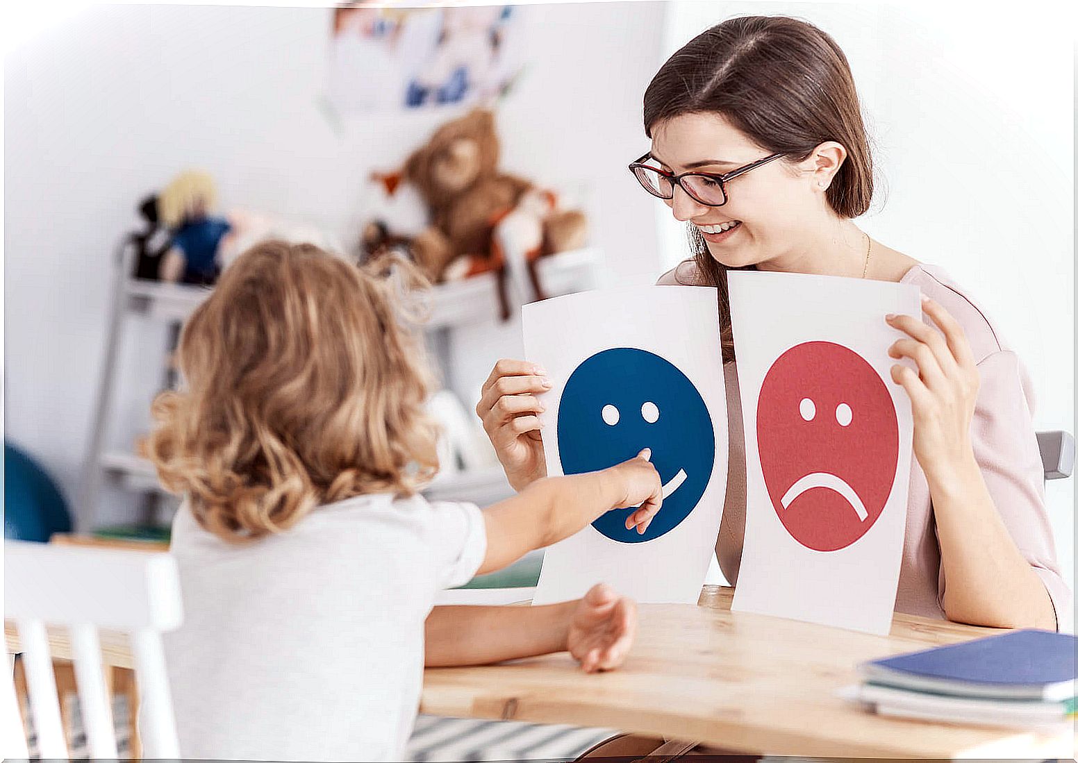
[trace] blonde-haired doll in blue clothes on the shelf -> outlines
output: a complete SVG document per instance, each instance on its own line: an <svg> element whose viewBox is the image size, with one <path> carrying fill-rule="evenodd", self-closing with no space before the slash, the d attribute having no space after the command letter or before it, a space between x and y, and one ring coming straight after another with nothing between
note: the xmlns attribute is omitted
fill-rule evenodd
<svg viewBox="0 0 1078 763"><path fill-rule="evenodd" d="M172 244L161 266L166 281L211 285L222 267L232 223L213 217L217 188L206 172L181 172L161 193L162 222L172 231Z"/></svg>

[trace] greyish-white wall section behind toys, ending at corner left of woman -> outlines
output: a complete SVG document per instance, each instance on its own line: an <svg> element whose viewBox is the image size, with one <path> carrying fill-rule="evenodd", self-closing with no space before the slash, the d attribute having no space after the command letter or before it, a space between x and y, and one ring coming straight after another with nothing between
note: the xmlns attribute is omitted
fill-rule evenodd
<svg viewBox="0 0 1078 763"><path fill-rule="evenodd" d="M638 224L650 199L623 165L642 151L639 99L660 64L663 9L522 11L531 63L500 113L502 164L555 185L586 183L594 240L613 277L652 278L655 232ZM98 385L112 252L137 225L141 196L201 166L225 207L345 225L361 214L370 169L392 167L448 119L354 120L335 131L320 106L330 23L329 9L102 6L8 55L6 435L70 499ZM514 336L508 328L482 343L464 337L474 355L457 372L461 383L478 389ZM157 384L162 330L135 325L128 339L113 445L144 428Z"/></svg>

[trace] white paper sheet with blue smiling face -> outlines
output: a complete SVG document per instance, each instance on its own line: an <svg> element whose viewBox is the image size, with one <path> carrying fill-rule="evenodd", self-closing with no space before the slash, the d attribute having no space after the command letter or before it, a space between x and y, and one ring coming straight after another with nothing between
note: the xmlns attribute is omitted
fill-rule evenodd
<svg viewBox="0 0 1078 763"><path fill-rule="evenodd" d="M644 602L695 604L727 482L727 400L715 289L634 287L524 306L525 357L552 388L547 473L580 474L651 449L663 504L648 529L616 509L545 552L535 604L606 582Z"/></svg>

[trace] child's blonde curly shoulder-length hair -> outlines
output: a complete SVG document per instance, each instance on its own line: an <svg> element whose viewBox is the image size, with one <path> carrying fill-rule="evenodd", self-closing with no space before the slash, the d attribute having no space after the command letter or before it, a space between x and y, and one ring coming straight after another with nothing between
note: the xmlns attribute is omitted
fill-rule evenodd
<svg viewBox="0 0 1078 763"><path fill-rule="evenodd" d="M154 400L141 444L204 528L255 539L319 504L409 496L433 476L430 376L399 283L285 241L225 269L183 329L186 389Z"/></svg>

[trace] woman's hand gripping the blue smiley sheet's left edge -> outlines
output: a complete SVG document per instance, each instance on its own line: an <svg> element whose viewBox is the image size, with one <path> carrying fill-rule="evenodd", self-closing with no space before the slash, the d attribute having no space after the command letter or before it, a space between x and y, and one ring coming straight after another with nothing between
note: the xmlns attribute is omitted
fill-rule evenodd
<svg viewBox="0 0 1078 763"><path fill-rule="evenodd" d="M483 384L475 413L490 439L509 484L520 493L547 476L536 396L550 389L545 371L523 360L499 360Z"/></svg>

